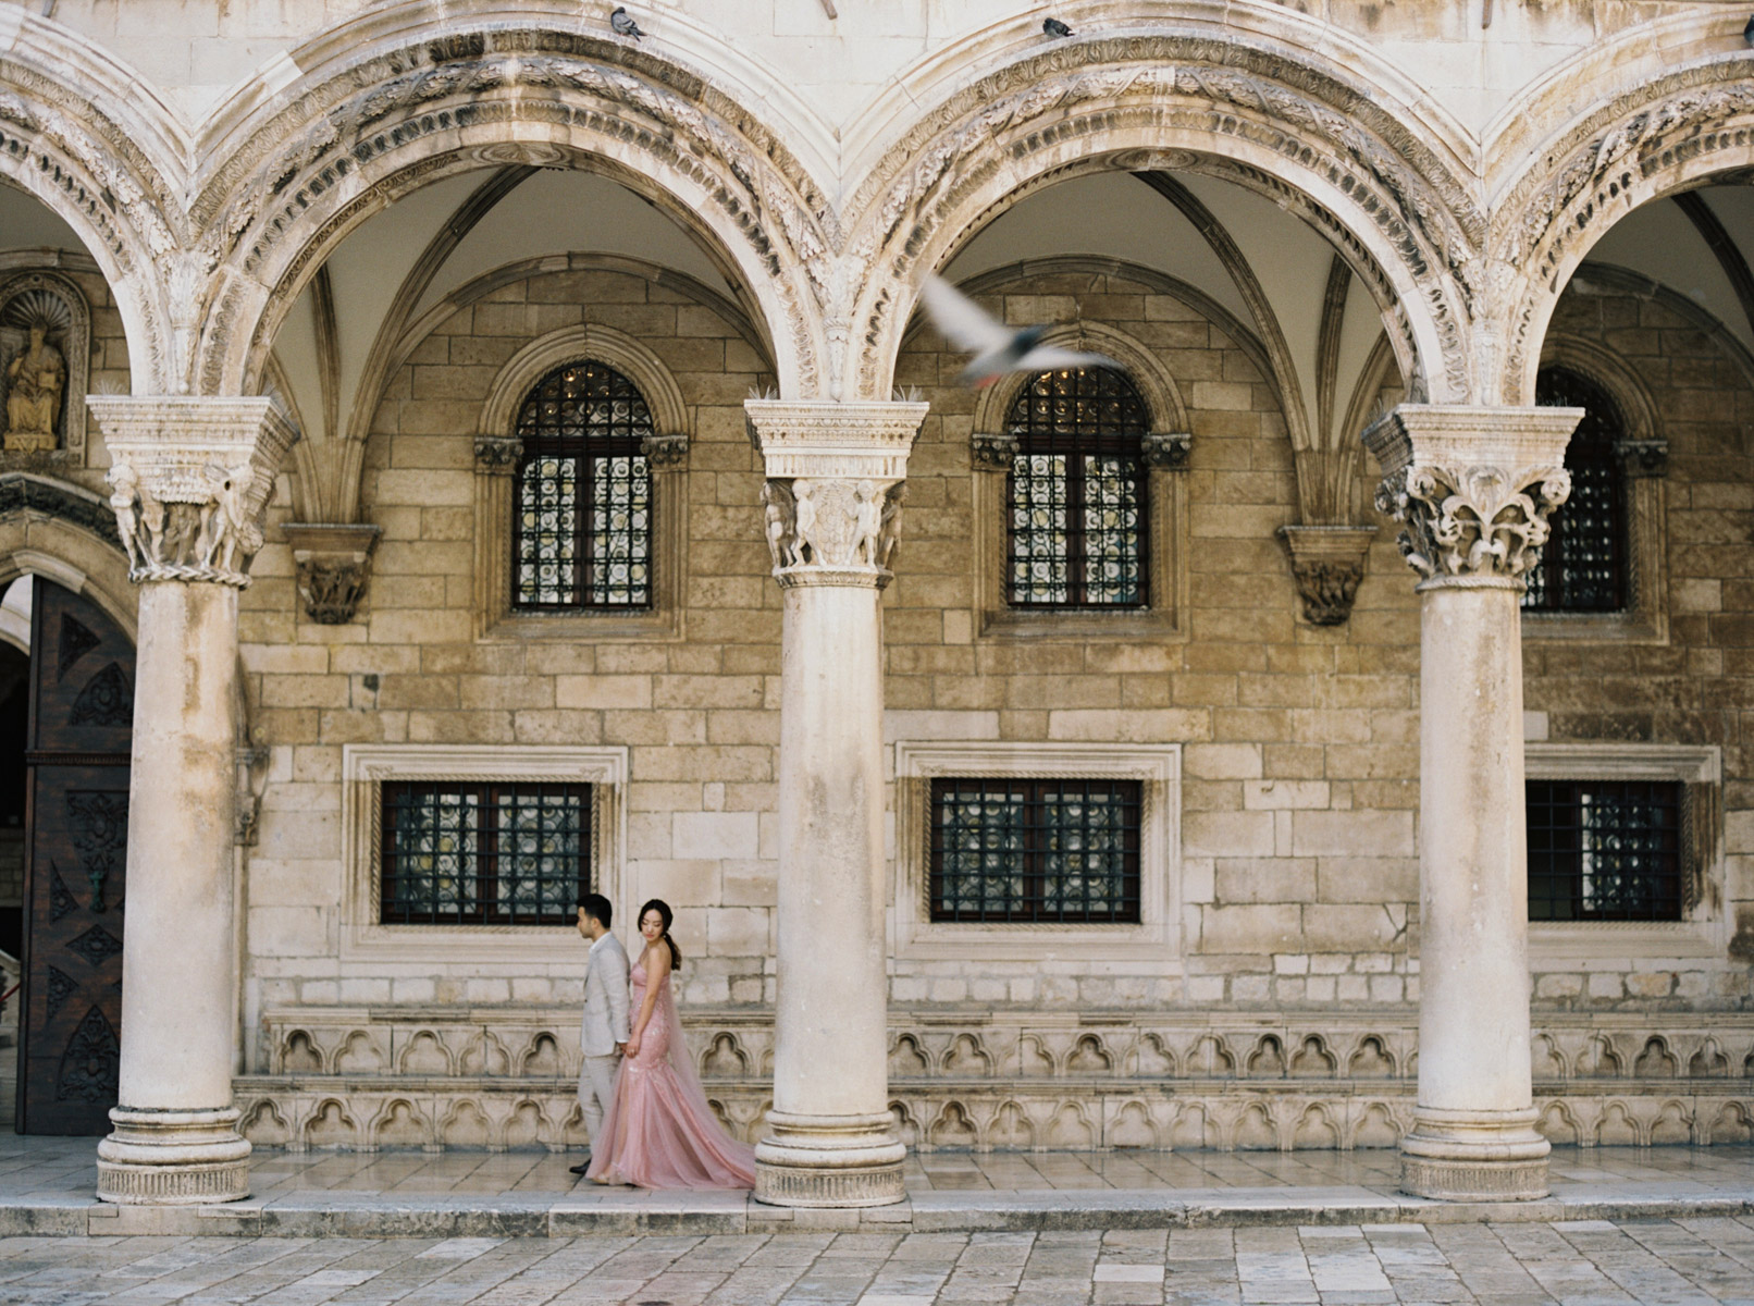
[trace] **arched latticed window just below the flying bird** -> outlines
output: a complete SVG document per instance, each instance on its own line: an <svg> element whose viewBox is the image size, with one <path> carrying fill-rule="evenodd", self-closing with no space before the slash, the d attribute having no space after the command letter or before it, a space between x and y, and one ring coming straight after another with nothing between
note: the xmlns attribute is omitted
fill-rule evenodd
<svg viewBox="0 0 1754 1306"><path fill-rule="evenodd" d="M1042 372L1017 393L1007 513L1014 607L1144 607L1151 430L1133 383L1110 369Z"/></svg>

